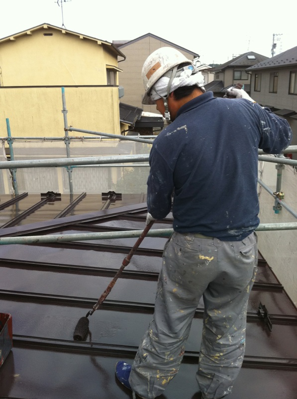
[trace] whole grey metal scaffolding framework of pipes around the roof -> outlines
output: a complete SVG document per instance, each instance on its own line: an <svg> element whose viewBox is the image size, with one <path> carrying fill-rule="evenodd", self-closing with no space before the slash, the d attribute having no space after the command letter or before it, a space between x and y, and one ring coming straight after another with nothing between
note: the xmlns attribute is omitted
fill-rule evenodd
<svg viewBox="0 0 297 399"><path fill-rule="evenodd" d="M1 138L1 140L7 140L7 143L9 145L9 150L10 150L10 161L3 161L0 162L0 169L9 169L11 171L12 175L12 182L13 182L13 189L14 189L14 194L15 196L18 195L18 184L17 184L17 175L16 171L19 168L48 168L48 167L66 167L68 176L69 176L69 189L70 189L70 194L73 194L73 181L72 181L72 169L73 167L102 167L102 166L112 166L112 167L119 167L123 166L125 164L129 164L129 167L148 167L148 164L139 164L140 162L148 162L149 160L149 154L140 154L140 155L125 155L125 156L101 156L101 157L71 157L70 154L70 143L72 140L79 140L82 138L78 137L71 137L68 135L68 132L81 132L81 133L87 133L95 136L99 136L99 139L101 140L102 138L109 138L113 140L127 140L127 141L133 141L133 142L140 142L140 143L145 143L145 144L152 144L153 139L144 139L139 136L122 136L122 135L115 135L115 134L109 134L109 133L102 133L102 132L96 132L96 131L91 131L91 130L84 130L84 129L77 129L73 127L68 127L68 122L67 122L67 108L66 108L66 99L65 99L65 89L62 87L62 103L63 103L63 117L64 117L64 131L65 131L65 137L63 138L38 138L38 137L20 137L20 138L12 138L11 137L11 131L10 131L10 126L9 126L9 120L6 119L6 127L7 127L7 138ZM39 159L39 160L22 160L22 161L15 161L14 160L14 152L13 152L13 140L63 140L66 145L66 155L67 158L58 158L58 159ZM91 138L83 138L83 139L91 139ZM92 138L93 139L93 138ZM94 140L94 139L93 139ZM288 153L297 153L297 146L289 146L284 152L284 154ZM262 150L259 150L259 161L265 161L265 162L270 162L270 163L275 163L277 164L277 169L279 171L278 176L277 176L277 187L276 187L276 193L273 193L272 190L266 186L260 179L258 179L259 184L267 190L272 196L275 198L275 211L279 211L282 206L284 206L291 214L293 214L297 218L297 212L294 211L287 205L279 196L279 192L281 191L281 184L282 184L282 169L284 165L290 165L293 166L297 169L297 161L292 160L289 158L285 158L283 155L278 155L278 156L268 156L264 155L265 153ZM126 166L126 165L125 165ZM278 223L277 226L272 226L266 227L268 225L259 225L258 229L296 229L297 228L297 223ZM284 228L286 226L286 228ZM167 229L168 231L170 229ZM136 230L135 230L136 231ZM156 231L158 231L159 234L163 234L162 230L151 230L149 234L154 234ZM127 234L132 234L132 235L127 235L127 237L134 237L136 236L135 234L138 234L139 232L126 232ZM96 238L94 239L100 239L100 237L103 237L103 233L96 233ZM165 233L164 233L165 234ZM66 237L67 235L63 235L63 237ZM73 237L75 236L72 235ZM84 234L79 234L79 237L76 239L83 240L83 239L92 239L92 234L87 234L88 238L83 238ZM122 235L116 235L114 238L119 238L122 237ZM22 239L30 239L31 237L18 237ZM112 238L112 234L108 235L108 238ZM6 238L5 238L6 239ZM41 239L41 236L38 236L38 239ZM61 240L60 236L54 236L51 235L50 238L48 239L57 239ZM69 240L70 238L68 237L66 240ZM75 238L73 238L75 239ZM4 243L4 238L0 239L1 243ZM41 242L41 241L40 241ZM45 241L44 241L45 242ZM7 241L7 243L9 243Z"/></svg>

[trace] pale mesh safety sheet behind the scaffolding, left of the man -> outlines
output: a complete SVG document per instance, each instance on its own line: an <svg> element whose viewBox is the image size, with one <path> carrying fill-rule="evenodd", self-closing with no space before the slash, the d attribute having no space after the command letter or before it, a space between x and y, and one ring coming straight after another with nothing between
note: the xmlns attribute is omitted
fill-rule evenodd
<svg viewBox="0 0 297 399"><path fill-rule="evenodd" d="M151 145L134 141L112 139L75 138L69 141L69 156L103 157L149 154ZM14 160L67 158L64 140L13 140ZM3 148L1 161L5 160ZM141 166L147 165L147 166ZM0 194L13 193L9 170L1 170ZM19 194L23 192L70 193L70 179L73 193L102 193L115 191L121 194L146 193L149 174L148 162L116 164L116 166L73 166L48 168L22 168L16 170Z"/></svg>

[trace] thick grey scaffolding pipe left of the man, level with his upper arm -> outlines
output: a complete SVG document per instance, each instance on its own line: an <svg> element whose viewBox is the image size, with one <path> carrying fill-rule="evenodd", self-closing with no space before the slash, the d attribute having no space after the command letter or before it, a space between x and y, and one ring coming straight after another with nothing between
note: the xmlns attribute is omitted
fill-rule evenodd
<svg viewBox="0 0 297 399"><path fill-rule="evenodd" d="M72 165L99 165L130 162L148 162L149 154L140 155L114 155L111 157L83 157L83 158L57 158L57 159L35 159L24 161L1 161L0 169L10 168L48 168Z"/></svg>

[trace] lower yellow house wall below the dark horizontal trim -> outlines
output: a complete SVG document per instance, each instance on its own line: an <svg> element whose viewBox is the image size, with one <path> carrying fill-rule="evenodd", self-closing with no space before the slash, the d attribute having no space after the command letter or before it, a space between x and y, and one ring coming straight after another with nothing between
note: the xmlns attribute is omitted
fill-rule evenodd
<svg viewBox="0 0 297 399"><path fill-rule="evenodd" d="M120 134L118 88L66 87L68 126ZM12 137L63 137L61 87L0 88L0 136L6 137L6 118ZM73 136L85 133L69 132Z"/></svg>

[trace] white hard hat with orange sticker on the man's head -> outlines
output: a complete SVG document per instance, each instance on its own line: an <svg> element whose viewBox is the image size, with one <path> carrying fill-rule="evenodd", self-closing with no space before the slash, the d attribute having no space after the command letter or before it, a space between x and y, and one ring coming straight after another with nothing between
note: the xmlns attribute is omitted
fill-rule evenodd
<svg viewBox="0 0 297 399"><path fill-rule="evenodd" d="M145 89L142 104L154 104L149 96L153 85L170 69L184 62L194 65L193 61L173 47L161 47L152 52L142 67L142 81Z"/></svg>

